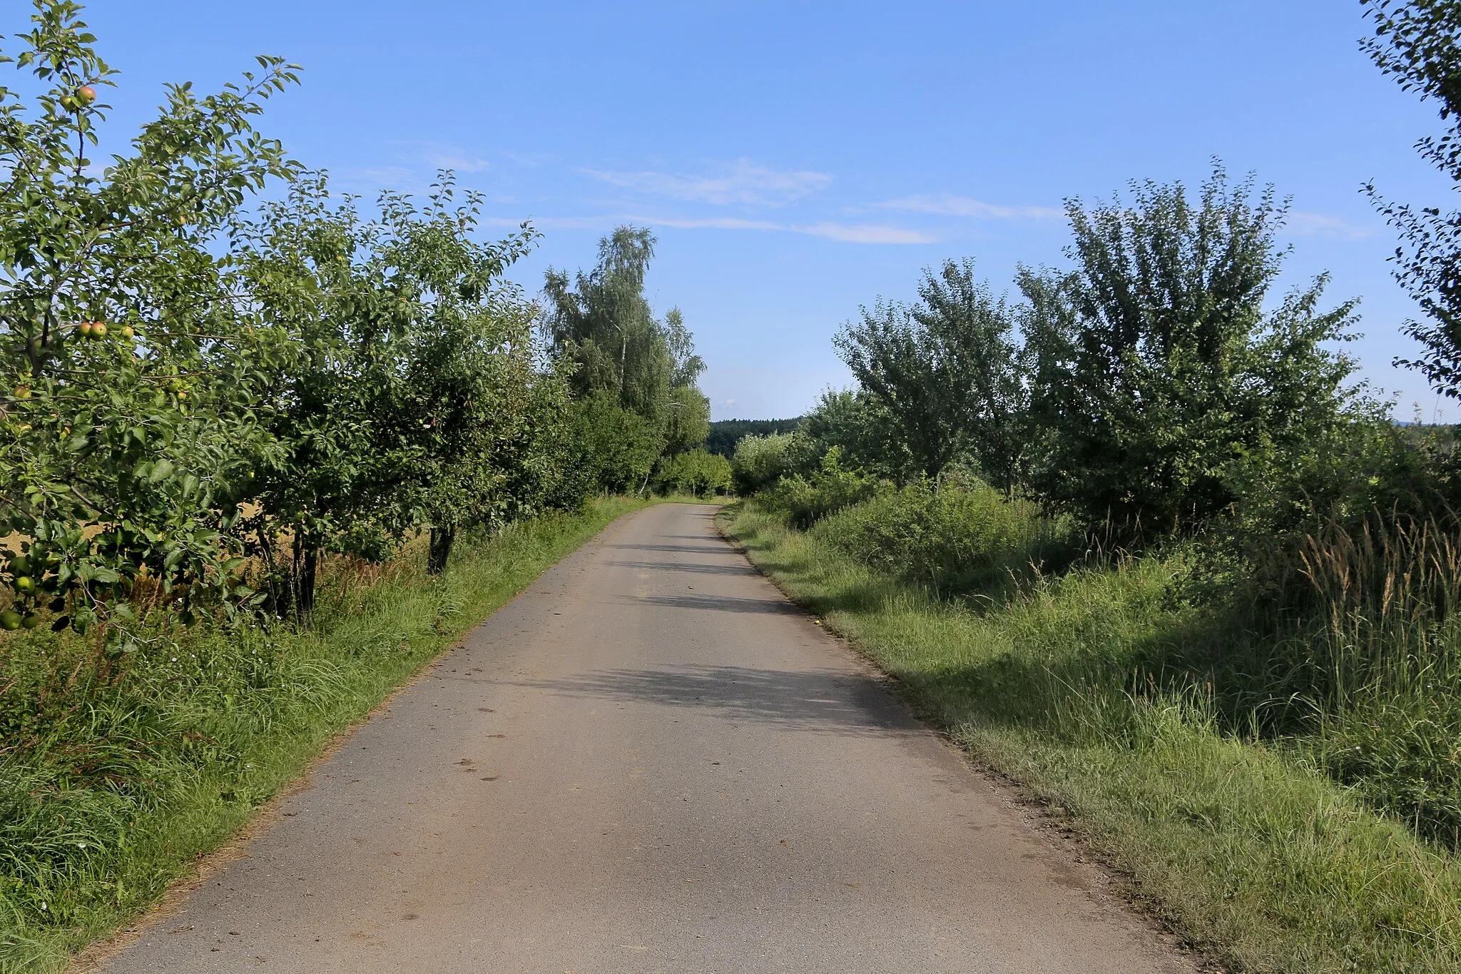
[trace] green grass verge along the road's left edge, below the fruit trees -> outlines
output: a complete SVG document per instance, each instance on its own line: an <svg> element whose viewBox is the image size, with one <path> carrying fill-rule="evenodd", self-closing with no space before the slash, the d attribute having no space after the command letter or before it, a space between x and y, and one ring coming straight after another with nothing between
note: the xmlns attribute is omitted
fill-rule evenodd
<svg viewBox="0 0 1461 974"><path fill-rule="evenodd" d="M313 632L158 632L126 667L75 635L0 641L0 973L56 971L158 901L342 730L545 568L647 501L336 562Z"/></svg>

